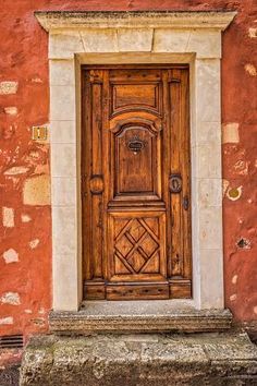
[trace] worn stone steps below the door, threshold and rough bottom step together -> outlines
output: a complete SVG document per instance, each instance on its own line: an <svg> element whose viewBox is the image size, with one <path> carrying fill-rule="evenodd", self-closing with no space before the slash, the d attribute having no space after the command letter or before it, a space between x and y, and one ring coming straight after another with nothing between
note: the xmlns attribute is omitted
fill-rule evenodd
<svg viewBox="0 0 257 386"><path fill-rule="evenodd" d="M87 303L33 337L21 386L257 385L257 348L229 311Z"/></svg>

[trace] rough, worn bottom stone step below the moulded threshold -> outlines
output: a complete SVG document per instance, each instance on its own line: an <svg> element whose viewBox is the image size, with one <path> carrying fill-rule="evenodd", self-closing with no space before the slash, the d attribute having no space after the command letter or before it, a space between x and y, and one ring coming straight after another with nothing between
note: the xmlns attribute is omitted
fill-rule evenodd
<svg viewBox="0 0 257 386"><path fill-rule="evenodd" d="M40 336L25 349L20 385L257 385L257 348L234 331Z"/></svg>

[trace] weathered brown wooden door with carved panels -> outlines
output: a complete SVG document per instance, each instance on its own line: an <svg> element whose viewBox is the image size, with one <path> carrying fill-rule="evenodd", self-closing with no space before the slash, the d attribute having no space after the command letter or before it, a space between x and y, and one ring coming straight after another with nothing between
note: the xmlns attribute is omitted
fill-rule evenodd
<svg viewBox="0 0 257 386"><path fill-rule="evenodd" d="M84 298L191 298L188 69L82 79Z"/></svg>

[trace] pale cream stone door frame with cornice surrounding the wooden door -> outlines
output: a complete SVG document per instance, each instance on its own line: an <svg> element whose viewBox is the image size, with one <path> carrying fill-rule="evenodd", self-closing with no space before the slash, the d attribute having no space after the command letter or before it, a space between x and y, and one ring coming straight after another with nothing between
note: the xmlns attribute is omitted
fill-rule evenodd
<svg viewBox="0 0 257 386"><path fill-rule="evenodd" d="M223 309L221 32L235 12L35 15L49 33L53 310L77 311L83 293L81 65L117 63L189 64L192 302Z"/></svg>

